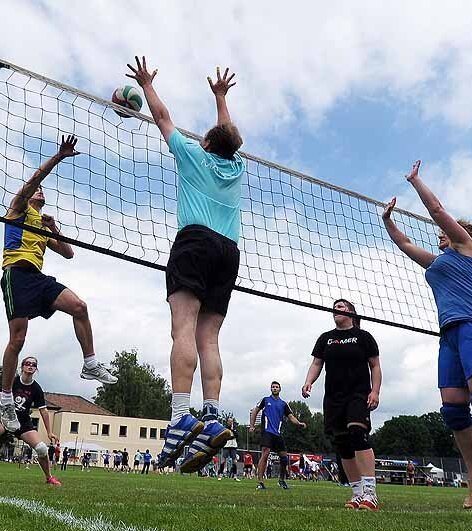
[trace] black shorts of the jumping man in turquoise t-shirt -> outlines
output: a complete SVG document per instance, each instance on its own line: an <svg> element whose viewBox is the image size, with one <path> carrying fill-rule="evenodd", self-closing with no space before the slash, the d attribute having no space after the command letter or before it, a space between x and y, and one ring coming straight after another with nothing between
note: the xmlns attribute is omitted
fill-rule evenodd
<svg viewBox="0 0 472 531"><path fill-rule="evenodd" d="M203 311L225 316L239 269L236 242L201 225L188 225L175 238L167 262L167 299L191 291Z"/></svg>

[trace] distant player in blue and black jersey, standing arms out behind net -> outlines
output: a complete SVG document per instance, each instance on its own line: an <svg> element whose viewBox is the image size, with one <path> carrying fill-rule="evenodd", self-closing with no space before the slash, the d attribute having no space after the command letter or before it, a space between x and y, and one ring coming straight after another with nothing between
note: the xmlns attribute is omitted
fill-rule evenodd
<svg viewBox="0 0 472 531"><path fill-rule="evenodd" d="M249 431L255 430L256 418L259 411L262 411L261 418L261 449L262 455L259 459L257 465L257 477L259 479L259 484L257 485L258 490L265 490L264 485L264 473L267 467L267 460L269 454L272 451L279 454L280 460L280 475L279 475L279 486L283 489L288 489L288 485L285 481L287 478L287 466L288 466L288 456L287 449L285 448L285 442L280 435L280 429L282 427L282 422L284 417L287 417L290 422L295 424L295 426L300 426L301 428L306 428L304 422L300 422L297 417L292 413L290 406L280 398L280 389L281 386L279 382L272 382L270 384L270 396L264 397L259 404L251 411L251 424Z"/></svg>

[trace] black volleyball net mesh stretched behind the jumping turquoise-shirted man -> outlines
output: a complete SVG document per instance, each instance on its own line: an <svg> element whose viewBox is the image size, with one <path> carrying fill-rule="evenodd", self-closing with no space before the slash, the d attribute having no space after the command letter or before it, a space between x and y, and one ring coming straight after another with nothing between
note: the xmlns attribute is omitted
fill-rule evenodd
<svg viewBox="0 0 472 531"><path fill-rule="evenodd" d="M63 133L81 155L43 183L44 211L62 233L104 252L165 266L177 232L177 168L156 125L110 102L14 65L0 68L0 203L13 195ZM382 205L279 165L244 155L238 286L331 308L343 297L358 313L437 330L423 270L390 241ZM399 228L434 252L430 220L395 213Z"/></svg>

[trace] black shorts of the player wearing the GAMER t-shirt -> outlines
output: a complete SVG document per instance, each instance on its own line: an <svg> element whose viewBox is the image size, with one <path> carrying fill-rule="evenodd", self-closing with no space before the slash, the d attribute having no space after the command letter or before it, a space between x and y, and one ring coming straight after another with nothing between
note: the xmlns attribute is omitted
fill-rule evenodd
<svg viewBox="0 0 472 531"><path fill-rule="evenodd" d="M367 407L368 393L352 393L348 396L324 397L323 416L328 435L345 433L347 425L359 422L370 431L370 410Z"/></svg>

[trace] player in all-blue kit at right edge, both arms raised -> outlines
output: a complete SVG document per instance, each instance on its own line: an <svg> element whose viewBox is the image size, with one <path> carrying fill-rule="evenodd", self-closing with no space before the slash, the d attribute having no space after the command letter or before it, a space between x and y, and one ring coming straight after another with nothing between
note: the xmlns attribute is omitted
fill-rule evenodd
<svg viewBox="0 0 472 531"><path fill-rule="evenodd" d="M439 255L416 246L391 219L394 197L382 218L387 232L408 257L426 269L426 281L438 307L439 340L438 386L441 414L454 433L457 447L472 474L472 224L455 220L419 177L421 161L406 176L429 214L439 226ZM472 481L464 509L472 509Z"/></svg>

